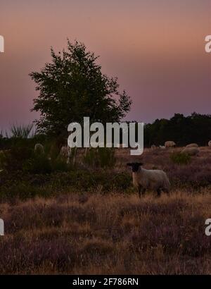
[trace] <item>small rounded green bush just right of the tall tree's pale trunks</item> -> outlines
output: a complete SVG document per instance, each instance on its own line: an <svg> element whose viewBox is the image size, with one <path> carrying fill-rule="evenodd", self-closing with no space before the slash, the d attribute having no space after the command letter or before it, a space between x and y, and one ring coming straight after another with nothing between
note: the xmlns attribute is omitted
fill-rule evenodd
<svg viewBox="0 0 211 289"><path fill-rule="evenodd" d="M115 162L115 149L108 147L91 148L84 156L84 163L92 167L110 168Z"/></svg>

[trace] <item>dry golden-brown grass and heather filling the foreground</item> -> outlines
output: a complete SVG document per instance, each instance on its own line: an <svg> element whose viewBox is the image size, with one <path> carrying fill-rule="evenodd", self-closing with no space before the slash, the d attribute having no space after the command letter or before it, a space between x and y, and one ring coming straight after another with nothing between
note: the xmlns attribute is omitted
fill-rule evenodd
<svg viewBox="0 0 211 289"><path fill-rule="evenodd" d="M1 205L1 273L211 273L211 196L61 195Z"/></svg>

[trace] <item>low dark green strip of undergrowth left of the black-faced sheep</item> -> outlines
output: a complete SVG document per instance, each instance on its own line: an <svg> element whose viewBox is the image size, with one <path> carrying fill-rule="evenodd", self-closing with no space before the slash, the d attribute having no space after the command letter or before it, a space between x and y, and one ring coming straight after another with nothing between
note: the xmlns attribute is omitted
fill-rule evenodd
<svg viewBox="0 0 211 289"><path fill-rule="evenodd" d="M53 197L61 192L125 193L131 192L131 181L128 173L114 173L110 169L90 171L74 168L70 171L51 171L51 174L34 174L29 171L2 172L0 202L13 198Z"/></svg>

